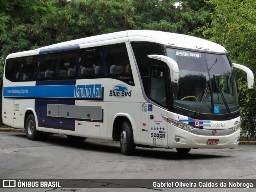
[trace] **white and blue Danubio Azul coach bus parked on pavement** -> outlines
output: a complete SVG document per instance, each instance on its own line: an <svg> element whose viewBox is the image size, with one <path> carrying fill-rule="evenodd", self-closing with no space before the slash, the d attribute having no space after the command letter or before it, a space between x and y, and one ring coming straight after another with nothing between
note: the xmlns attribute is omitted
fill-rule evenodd
<svg viewBox="0 0 256 192"><path fill-rule="evenodd" d="M4 124L30 140L48 133L71 140L136 146L235 148L240 136L238 86L222 46L200 38L128 30L7 56Z"/></svg>

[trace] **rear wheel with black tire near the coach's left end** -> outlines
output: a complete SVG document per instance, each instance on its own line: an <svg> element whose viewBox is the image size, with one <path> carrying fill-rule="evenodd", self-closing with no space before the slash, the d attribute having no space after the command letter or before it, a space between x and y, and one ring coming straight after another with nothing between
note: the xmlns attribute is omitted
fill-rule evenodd
<svg viewBox="0 0 256 192"><path fill-rule="evenodd" d="M36 130L36 120L34 115L30 114L26 119L25 124L26 136L29 140L38 140L41 136L41 132Z"/></svg>

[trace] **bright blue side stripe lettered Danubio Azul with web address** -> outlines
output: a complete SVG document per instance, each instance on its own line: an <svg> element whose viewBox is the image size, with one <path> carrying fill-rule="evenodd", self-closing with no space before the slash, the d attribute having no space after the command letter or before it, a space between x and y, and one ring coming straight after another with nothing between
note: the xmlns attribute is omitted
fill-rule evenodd
<svg viewBox="0 0 256 192"><path fill-rule="evenodd" d="M12 98L103 98L102 84L16 86L3 89L3 96Z"/></svg>

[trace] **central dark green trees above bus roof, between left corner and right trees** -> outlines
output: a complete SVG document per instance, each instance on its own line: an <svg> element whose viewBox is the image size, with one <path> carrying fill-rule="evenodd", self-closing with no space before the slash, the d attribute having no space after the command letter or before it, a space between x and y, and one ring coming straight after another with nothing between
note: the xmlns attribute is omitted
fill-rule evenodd
<svg viewBox="0 0 256 192"><path fill-rule="evenodd" d="M43 46L110 32L149 29L196 34L208 22L203 0L50 0L57 8L53 17L40 24ZM47 37L47 39L46 39Z"/></svg>

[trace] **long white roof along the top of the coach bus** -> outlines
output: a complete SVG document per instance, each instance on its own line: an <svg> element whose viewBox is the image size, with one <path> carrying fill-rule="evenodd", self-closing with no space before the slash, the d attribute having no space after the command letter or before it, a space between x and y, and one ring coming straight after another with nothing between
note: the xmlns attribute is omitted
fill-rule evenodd
<svg viewBox="0 0 256 192"><path fill-rule="evenodd" d="M46 53L47 50L52 50L52 52L54 52L54 50L69 50L70 48L75 49L76 47L84 48L103 44L134 41L156 42L175 48L190 49L195 51L227 53L226 49L219 44L194 36L153 30L128 30L52 44L31 51L10 54L7 56L7 58L35 55L40 53L42 54Z"/></svg>

